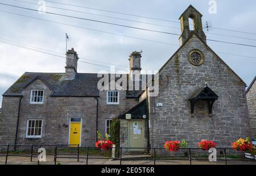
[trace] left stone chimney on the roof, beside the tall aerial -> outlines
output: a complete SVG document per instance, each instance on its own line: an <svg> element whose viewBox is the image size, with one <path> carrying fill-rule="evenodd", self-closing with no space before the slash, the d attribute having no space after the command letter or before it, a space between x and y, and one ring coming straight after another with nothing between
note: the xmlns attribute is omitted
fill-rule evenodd
<svg viewBox="0 0 256 176"><path fill-rule="evenodd" d="M65 79L74 79L77 73L77 61L79 57L74 48L71 48L66 53Z"/></svg>

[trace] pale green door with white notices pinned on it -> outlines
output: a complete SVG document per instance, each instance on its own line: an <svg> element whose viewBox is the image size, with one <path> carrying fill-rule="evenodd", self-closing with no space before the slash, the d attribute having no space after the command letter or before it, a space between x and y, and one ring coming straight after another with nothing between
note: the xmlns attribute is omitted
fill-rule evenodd
<svg viewBox="0 0 256 176"><path fill-rule="evenodd" d="M143 148L144 143L144 121L130 120L129 121L129 147ZM143 149L130 149L130 151L141 151Z"/></svg>

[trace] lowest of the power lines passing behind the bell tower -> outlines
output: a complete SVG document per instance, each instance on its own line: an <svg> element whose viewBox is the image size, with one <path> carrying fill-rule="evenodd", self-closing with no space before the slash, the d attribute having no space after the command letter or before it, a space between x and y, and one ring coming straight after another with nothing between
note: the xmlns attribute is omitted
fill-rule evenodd
<svg viewBox="0 0 256 176"><path fill-rule="evenodd" d="M42 18L35 18L35 17L32 17L32 16L27 16L27 15L22 15L22 14L16 14L16 13L13 13L13 12L8 12L8 11L3 11L3 10L0 10L0 11L6 12L6 13L9 13L9 14L18 15L18 16L24 16L24 17L27 17L27 18L43 20L43 21L51 22L51 23L57 23L57 24L61 24L61 25L64 25L64 26L72 26L72 27L76 27L76 28L82 28L82 29L84 29L84 30L97 31L97 32L102 32L102 33L108 33L108 34L111 34L111 35L129 37L129 38L131 38L131 39L138 39L138 40L144 40L144 41L151 41L151 42L154 42L154 43L167 44L167 45L174 45L174 46L178 46L178 47L179 47L179 45L177 45L177 44L166 43L166 42L156 41L156 40L143 39L143 38L134 37L134 36L121 35L121 34L119 34L119 33L106 32L106 31L101 31L101 30L95 30L95 29L92 29L92 28L85 28L85 27L81 27L81 26L75 26L75 25L72 25L72 24L55 22L55 21L52 21L52 20L47 20L47 19L42 19ZM225 54L225 55L232 55L232 56L247 57L247 58L256 58L256 57L252 57L252 56L235 55L235 54L233 54L233 53L226 53L226 52L217 52L217 53L222 53L222 54Z"/></svg>

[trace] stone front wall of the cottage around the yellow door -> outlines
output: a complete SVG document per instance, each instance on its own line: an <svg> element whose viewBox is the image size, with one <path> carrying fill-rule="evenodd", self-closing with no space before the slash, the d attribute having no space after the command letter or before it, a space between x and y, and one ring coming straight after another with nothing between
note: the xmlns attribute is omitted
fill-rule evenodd
<svg viewBox="0 0 256 176"><path fill-rule="evenodd" d="M31 89L44 90L43 104L30 104ZM81 145L94 146L96 141L97 100L94 97L51 97L52 90L36 79L23 90L17 144L68 144L69 119L81 118ZM126 99L120 91L119 104L106 104L106 91L101 91L98 106L98 130L105 134L105 119L116 118L138 103ZM14 144L19 97L4 97L0 118L1 144ZM26 138L28 119L42 119L42 137Z"/></svg>

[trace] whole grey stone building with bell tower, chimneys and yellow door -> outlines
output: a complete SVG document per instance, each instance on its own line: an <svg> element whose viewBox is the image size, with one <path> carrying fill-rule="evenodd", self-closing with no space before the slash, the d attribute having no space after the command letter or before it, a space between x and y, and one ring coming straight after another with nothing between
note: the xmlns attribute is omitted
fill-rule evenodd
<svg viewBox="0 0 256 176"><path fill-rule="evenodd" d="M190 147L201 139L230 146L250 136L245 82L207 45L201 17L193 6L181 14L180 48L157 74L141 74L141 53L131 53L123 77L139 89L99 90L96 73L77 73L74 49L65 73L24 73L3 94L1 143L94 146L97 131L109 133L113 118L122 147L162 148L182 139Z"/></svg>

